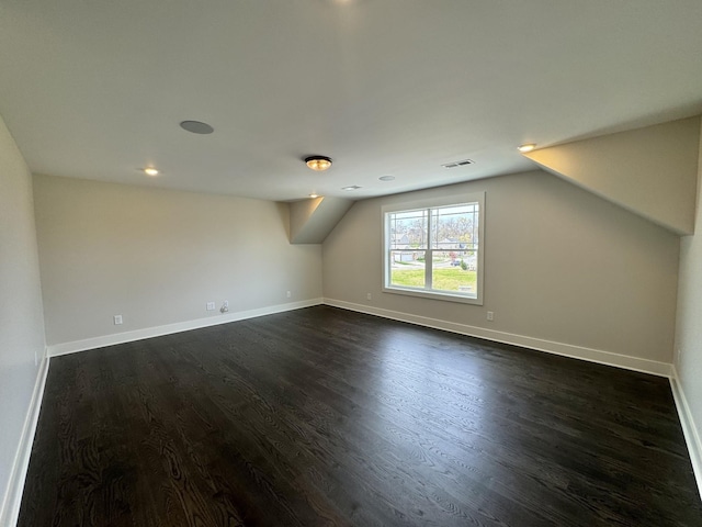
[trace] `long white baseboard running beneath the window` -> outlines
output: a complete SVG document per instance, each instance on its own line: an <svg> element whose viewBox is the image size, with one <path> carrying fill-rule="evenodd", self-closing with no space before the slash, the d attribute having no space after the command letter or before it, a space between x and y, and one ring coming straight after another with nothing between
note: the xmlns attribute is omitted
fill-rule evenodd
<svg viewBox="0 0 702 527"><path fill-rule="evenodd" d="M627 355L613 354L600 349L585 348L581 346L573 346L570 344L555 343L541 338L525 337L523 335L514 335L511 333L496 332L484 327L468 326L466 324L457 324L454 322L430 318L427 316L411 315L398 311L383 310L363 304L344 302L341 300L325 299L325 304L335 307L341 307L350 311L358 311L370 315L377 315L394 321L407 322L419 326L433 327L435 329L444 329L446 332L468 335L471 337L485 338L497 343L511 344L521 346L522 348L546 351L550 354L571 357L575 359L587 360L600 365L615 366L626 370L641 371L652 373L659 377L670 377L670 365L667 362L658 362L656 360L641 359Z"/></svg>

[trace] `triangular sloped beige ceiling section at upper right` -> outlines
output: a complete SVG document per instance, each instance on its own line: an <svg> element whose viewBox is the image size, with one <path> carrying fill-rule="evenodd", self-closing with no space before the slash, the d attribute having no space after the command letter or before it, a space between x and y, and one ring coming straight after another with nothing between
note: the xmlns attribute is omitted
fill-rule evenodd
<svg viewBox="0 0 702 527"><path fill-rule="evenodd" d="M694 229L700 116L524 154L579 187L678 235Z"/></svg>

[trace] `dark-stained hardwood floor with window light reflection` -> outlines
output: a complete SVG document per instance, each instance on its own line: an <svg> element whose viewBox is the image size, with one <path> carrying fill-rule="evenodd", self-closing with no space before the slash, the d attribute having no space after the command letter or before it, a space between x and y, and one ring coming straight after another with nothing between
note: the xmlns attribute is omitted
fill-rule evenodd
<svg viewBox="0 0 702 527"><path fill-rule="evenodd" d="M667 379L317 306L52 359L20 526L702 526Z"/></svg>

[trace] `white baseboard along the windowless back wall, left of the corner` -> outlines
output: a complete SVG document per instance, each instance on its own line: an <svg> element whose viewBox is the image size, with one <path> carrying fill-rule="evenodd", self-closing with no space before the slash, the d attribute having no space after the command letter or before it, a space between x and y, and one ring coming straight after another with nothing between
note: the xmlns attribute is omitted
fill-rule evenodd
<svg viewBox="0 0 702 527"><path fill-rule="evenodd" d="M48 347L49 357L58 357L60 355L75 354L77 351L86 351L88 349L103 348L105 346L114 346L115 344L133 343L144 338L160 337L162 335L171 335L173 333L189 332L201 327L217 326L229 322L244 321L254 318L257 316L272 315L285 311L299 310L313 305L324 304L324 299L304 300L301 302L290 302L287 304L276 304L258 310L237 311L220 316L211 316L207 318L197 318L194 321L179 322L176 324L167 324L163 326L146 327L144 329L135 329L133 332L116 333L113 335L104 335L101 337L86 338L83 340L73 340L71 343L55 344Z"/></svg>

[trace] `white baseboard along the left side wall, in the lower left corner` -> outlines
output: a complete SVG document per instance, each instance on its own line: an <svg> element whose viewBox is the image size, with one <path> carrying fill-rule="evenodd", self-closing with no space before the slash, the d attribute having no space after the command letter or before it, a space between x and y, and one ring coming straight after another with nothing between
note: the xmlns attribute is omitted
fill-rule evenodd
<svg viewBox="0 0 702 527"><path fill-rule="evenodd" d="M22 426L22 436L20 445L14 455L12 463L12 472L8 482L8 490L0 508L0 525L15 526L20 516L20 506L22 505L22 492L24 491L24 480L26 471L30 468L30 456L32 455L32 445L34 444L34 433L39 419L39 410L42 407L42 399L44 396L44 386L46 385L46 374L48 373L49 358L45 355L39 363L36 373L34 391L30 401L24 425Z"/></svg>

